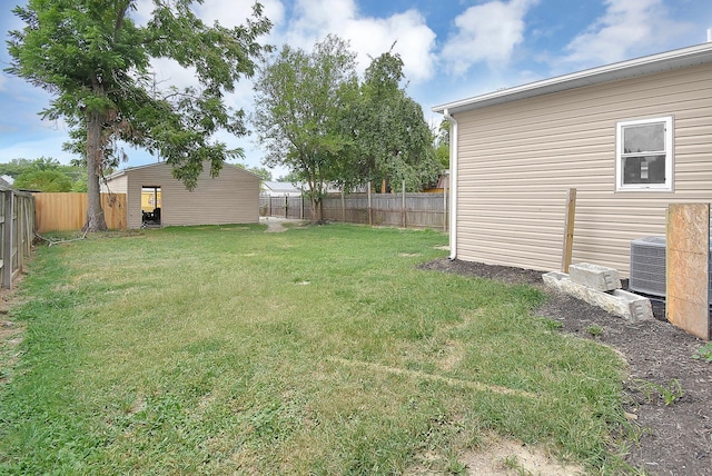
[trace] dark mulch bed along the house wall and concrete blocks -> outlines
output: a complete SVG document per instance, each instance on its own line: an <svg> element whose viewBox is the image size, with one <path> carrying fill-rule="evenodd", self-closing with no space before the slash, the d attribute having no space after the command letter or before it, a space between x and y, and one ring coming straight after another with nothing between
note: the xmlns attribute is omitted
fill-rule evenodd
<svg viewBox="0 0 712 476"><path fill-rule="evenodd" d="M565 333L612 346L627 361L629 420L612 450L651 475L712 475L712 364L693 358L704 341L668 323L664 304L653 303L655 319L629 324L548 290L541 271L448 259L422 268L544 289L548 300L537 315L561 323Z"/></svg>

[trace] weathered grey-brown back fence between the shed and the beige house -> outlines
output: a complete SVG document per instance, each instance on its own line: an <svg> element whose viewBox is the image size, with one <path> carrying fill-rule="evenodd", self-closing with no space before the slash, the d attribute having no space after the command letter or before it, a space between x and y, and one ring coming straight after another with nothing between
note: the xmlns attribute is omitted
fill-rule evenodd
<svg viewBox="0 0 712 476"><path fill-rule="evenodd" d="M329 195L323 200L323 218L330 221L375 226L447 230L446 194L350 194ZM261 217L312 219L312 206L303 197L259 199Z"/></svg>

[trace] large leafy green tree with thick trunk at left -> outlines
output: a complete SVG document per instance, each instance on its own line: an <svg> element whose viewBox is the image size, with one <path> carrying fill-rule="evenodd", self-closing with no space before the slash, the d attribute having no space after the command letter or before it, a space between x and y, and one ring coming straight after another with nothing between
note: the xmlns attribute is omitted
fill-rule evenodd
<svg viewBox="0 0 712 476"><path fill-rule="evenodd" d="M138 0L28 0L16 7L26 27L11 31L6 71L49 91L41 115L65 118L79 140L88 167L86 228L106 229L99 180L126 141L158 152L188 188L202 163L215 176L222 162L241 153L212 139L218 129L246 133L241 111L224 95L255 71L265 47L257 39L270 22L256 3L253 17L236 28L205 24L194 11L202 0L154 0L145 24L134 20ZM200 85L155 91L151 60L171 58L190 68Z"/></svg>

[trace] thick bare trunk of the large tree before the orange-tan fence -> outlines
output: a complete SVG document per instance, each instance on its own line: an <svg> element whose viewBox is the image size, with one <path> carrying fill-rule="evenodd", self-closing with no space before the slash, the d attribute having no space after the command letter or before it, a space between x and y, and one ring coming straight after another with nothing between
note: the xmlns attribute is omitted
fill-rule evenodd
<svg viewBox="0 0 712 476"><path fill-rule="evenodd" d="M101 208L101 190L99 188L99 178L102 173L102 147L101 147L101 127L103 126L103 116L100 111L87 112L87 195L89 198L89 207L87 208L86 231L105 231L107 230L107 220Z"/></svg>

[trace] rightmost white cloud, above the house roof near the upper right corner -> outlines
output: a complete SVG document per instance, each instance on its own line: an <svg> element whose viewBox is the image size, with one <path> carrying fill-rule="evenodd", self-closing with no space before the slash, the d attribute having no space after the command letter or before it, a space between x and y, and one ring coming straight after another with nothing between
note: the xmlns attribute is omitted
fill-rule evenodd
<svg viewBox="0 0 712 476"><path fill-rule="evenodd" d="M563 61L594 66L647 54L684 34L688 23L670 18L662 0L606 0L606 12L567 46Z"/></svg>

